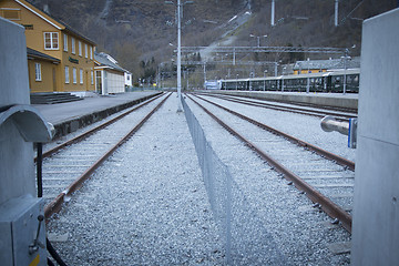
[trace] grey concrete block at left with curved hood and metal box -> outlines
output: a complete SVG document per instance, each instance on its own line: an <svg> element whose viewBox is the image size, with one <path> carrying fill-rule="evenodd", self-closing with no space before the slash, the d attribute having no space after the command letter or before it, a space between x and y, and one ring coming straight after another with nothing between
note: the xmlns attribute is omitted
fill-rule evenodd
<svg viewBox="0 0 399 266"><path fill-rule="evenodd" d="M47 265L43 202L37 198L33 142L51 126L30 105L24 28L0 18L0 265Z"/></svg>

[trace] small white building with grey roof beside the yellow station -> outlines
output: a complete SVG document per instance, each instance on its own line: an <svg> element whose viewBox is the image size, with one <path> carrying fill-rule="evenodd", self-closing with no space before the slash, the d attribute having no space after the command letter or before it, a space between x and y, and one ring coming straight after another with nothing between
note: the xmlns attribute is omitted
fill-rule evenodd
<svg viewBox="0 0 399 266"><path fill-rule="evenodd" d="M96 92L103 95L125 92L129 71L121 68L110 54L95 52L94 59Z"/></svg>

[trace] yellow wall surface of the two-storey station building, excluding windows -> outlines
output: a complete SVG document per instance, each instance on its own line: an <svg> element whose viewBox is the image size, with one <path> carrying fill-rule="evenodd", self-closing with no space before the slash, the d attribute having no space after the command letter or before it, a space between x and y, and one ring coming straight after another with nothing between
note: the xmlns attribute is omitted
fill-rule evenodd
<svg viewBox="0 0 399 266"><path fill-rule="evenodd" d="M73 34L65 30L65 27L53 20L50 16L44 12L38 11L31 4L21 1L25 7L17 3L13 0L3 0L0 1L0 8L12 8L20 10L20 19L12 20L16 23L22 24L25 27L25 38L27 45L33 50L45 53L50 57L61 60L61 63L55 66L55 76L57 85L44 86L39 85L38 91L66 91L66 92L76 92L76 91L94 91L94 84L91 83L91 71L94 69L94 60L90 57L90 48L92 48L92 53L94 53L94 48L91 43L83 40L81 37ZM32 9L32 10L29 10ZM35 13L33 12L35 11ZM58 49L49 50L44 48L44 32L57 32L58 33ZM68 51L64 51L64 34L68 35ZM72 38L75 39L75 53L72 53ZM79 54L79 41L82 43L82 54ZM88 57L85 54L85 44L88 45ZM65 69L69 66L70 82L65 82ZM73 68L76 69L76 82L73 82ZM83 83L81 83L81 72L83 70ZM44 72L43 72L44 74ZM50 73L45 73L53 76L52 69ZM89 82L88 82L89 81ZM31 81L31 84L34 84L34 80ZM34 88L34 86L33 86ZM48 89L45 89L48 88ZM35 92L35 91L32 91Z"/></svg>

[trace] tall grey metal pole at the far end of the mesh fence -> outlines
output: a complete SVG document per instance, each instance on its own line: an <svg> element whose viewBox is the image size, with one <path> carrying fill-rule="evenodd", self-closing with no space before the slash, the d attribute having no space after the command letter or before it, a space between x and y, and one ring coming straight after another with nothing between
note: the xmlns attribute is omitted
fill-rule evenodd
<svg viewBox="0 0 399 266"><path fill-rule="evenodd" d="M167 4L174 4L173 1L165 1ZM193 1L185 1L183 4L193 3ZM181 0L177 0L177 98L178 98L178 106L177 112L183 112L182 108L182 11L183 4Z"/></svg>

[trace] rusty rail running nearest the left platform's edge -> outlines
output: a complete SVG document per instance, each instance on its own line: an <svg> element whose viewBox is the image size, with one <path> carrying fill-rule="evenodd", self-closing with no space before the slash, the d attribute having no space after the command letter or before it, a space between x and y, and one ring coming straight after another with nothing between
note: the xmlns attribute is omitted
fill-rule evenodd
<svg viewBox="0 0 399 266"><path fill-rule="evenodd" d="M131 114L132 112L134 112L134 111L136 111L136 110L139 110L139 109L141 109L141 108L143 108L143 106L145 106L145 105L147 105L149 103L155 101L156 99L161 98L162 95L164 95L164 94L162 93L162 94L160 94L160 95L156 95L156 96L154 96L154 98L152 98L152 99L150 99L150 100L141 103L140 105L133 108L132 110L130 110L130 111L127 111L127 112L124 112L124 113L117 115L116 117L113 117L112 120L110 120L110 121L108 121L108 122L102 123L102 124L100 124L100 125L91 129L90 131L86 131L86 132L84 132L84 133L82 133L82 134L80 134L80 135L78 135L78 136L75 136L75 137L73 137L73 139L71 139L71 140L69 140L69 141L65 141L65 142L63 142L63 143L61 143L60 145L57 145L57 146L50 149L49 151L45 151L45 152L42 154L42 157L43 157L43 158L44 158L44 157L50 157L50 156L52 156L54 153L57 153L58 151L64 149L65 146L69 146L69 145L71 145L71 144L74 144L74 143L78 143L78 142L83 141L83 140L86 139L88 136L90 136L90 135L94 134L95 132L98 132L98 131L100 131L100 130L102 130L102 129L104 129L104 127L106 127L106 126L109 126L109 125L117 122L119 120L123 119L123 117L126 116L127 114ZM37 162L37 157L34 157L34 162Z"/></svg>

